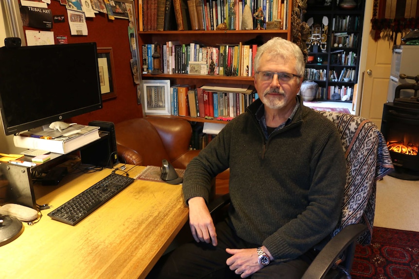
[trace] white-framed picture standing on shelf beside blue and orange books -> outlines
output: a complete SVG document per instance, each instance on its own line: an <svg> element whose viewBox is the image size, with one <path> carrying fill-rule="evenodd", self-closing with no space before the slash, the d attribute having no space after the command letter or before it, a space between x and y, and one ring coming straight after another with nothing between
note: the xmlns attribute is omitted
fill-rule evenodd
<svg viewBox="0 0 419 279"><path fill-rule="evenodd" d="M170 115L170 81L146 80L142 81L145 114Z"/></svg>

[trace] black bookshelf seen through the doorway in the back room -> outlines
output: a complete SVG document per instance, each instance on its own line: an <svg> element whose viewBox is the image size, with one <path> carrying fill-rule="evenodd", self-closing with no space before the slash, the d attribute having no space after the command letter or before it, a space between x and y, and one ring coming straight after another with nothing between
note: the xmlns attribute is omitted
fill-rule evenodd
<svg viewBox="0 0 419 279"><path fill-rule="evenodd" d="M354 85L358 83L365 9L364 0L357 2L352 9L340 7L337 1L330 5L311 1L307 5L304 21L311 34L305 80L319 85L317 100L352 102Z"/></svg>

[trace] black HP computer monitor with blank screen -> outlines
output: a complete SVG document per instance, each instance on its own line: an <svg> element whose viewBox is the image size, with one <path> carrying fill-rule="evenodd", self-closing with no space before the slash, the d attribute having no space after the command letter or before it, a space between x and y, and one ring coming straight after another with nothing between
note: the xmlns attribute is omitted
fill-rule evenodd
<svg viewBox="0 0 419 279"><path fill-rule="evenodd" d="M0 48L6 135L101 108L96 43Z"/></svg>

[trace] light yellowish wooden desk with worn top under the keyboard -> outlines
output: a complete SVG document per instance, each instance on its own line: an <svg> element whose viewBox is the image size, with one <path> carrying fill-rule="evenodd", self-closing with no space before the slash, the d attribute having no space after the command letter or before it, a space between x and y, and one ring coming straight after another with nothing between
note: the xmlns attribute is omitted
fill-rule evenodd
<svg viewBox="0 0 419 279"><path fill-rule="evenodd" d="M126 168L130 177L143 169ZM110 172L69 175L62 186L36 186L36 202L58 207ZM180 185L140 180L76 226L52 220L51 211L43 210L33 226L24 223L23 233L0 247L1 278L145 278L188 219Z"/></svg>

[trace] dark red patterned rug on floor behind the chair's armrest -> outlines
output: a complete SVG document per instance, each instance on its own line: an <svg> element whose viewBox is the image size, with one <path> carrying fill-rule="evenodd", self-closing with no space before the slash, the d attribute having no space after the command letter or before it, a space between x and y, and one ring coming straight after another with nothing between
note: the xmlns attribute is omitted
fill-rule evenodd
<svg viewBox="0 0 419 279"><path fill-rule="evenodd" d="M419 232L374 227L371 244L356 246L352 279L419 279Z"/></svg>

